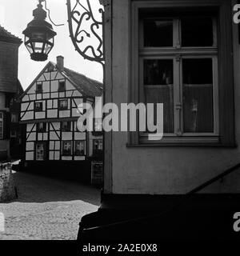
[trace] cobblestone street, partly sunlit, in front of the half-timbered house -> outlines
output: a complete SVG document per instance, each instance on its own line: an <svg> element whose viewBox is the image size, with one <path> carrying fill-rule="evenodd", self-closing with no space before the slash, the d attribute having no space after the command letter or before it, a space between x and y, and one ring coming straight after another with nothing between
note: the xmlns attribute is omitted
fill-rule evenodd
<svg viewBox="0 0 240 256"><path fill-rule="evenodd" d="M74 240L85 214L98 210L100 190L76 182L15 173L18 199L0 203L0 240Z"/></svg>

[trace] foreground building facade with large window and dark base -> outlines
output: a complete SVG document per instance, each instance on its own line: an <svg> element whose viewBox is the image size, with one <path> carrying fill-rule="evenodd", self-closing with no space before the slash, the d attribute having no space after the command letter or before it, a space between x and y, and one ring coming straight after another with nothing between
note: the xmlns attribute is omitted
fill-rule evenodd
<svg viewBox="0 0 240 256"><path fill-rule="evenodd" d="M126 236L147 241L154 238L154 231L158 238L183 238L183 230L188 238L234 236L226 225L232 225L231 212L238 210L240 193L240 46L233 22L238 2L102 3L105 102L114 102L119 109L123 102L163 103L164 134L159 141L151 141L150 133L139 129L105 134L102 206L100 212L82 218L84 234L94 227L88 230L90 238L102 235L116 241ZM195 192L200 200L185 201L186 208L192 208L170 211L178 199ZM224 207L231 209L225 217ZM122 222L153 212L168 214ZM218 218L210 217L213 213ZM179 221L174 222L178 214ZM201 224L190 216L202 218ZM222 230L217 219L224 223Z"/></svg>

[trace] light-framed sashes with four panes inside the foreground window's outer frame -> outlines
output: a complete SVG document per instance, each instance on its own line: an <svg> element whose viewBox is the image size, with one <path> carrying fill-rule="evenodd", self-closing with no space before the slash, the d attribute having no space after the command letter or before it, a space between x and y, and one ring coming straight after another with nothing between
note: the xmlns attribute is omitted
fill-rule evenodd
<svg viewBox="0 0 240 256"><path fill-rule="evenodd" d="M140 26L140 97L145 103L163 103L165 136L218 136L214 16L146 15Z"/></svg>

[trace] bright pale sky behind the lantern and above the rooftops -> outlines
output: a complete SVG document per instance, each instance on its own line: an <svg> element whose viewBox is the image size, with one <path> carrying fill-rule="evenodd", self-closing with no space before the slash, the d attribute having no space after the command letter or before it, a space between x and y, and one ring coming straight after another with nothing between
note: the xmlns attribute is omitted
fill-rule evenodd
<svg viewBox="0 0 240 256"><path fill-rule="evenodd" d="M85 3L85 0L81 1ZM71 2L73 5L75 0L71 0ZM100 7L98 0L91 0L91 2L95 14L98 14L97 10ZM24 43L19 47L18 78L22 83L23 89L30 85L44 66L46 66L47 62L56 62L58 55L64 57L64 65L67 68L102 82L102 65L97 62L84 60L74 49L67 22L66 0L46 0L46 3L48 9L50 9L50 16L53 22L56 24L64 23L64 26L53 26L57 36L54 39L54 48L51 50L46 62L32 61ZM38 0L0 0L0 25L24 41L22 31L32 21L32 13L37 5ZM101 17L98 15L97 19L99 20L99 18ZM50 22L48 18L46 18L46 21ZM85 24L84 26L87 27ZM89 40L93 44L96 42L94 39Z"/></svg>

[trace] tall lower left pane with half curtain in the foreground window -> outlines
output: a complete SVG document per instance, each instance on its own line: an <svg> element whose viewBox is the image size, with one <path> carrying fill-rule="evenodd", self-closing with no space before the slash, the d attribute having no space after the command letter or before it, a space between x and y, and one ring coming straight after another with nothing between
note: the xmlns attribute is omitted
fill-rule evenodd
<svg viewBox="0 0 240 256"><path fill-rule="evenodd" d="M144 86L146 103L163 103L163 131L174 132L173 60L145 60ZM157 110L154 108L154 122Z"/></svg>

